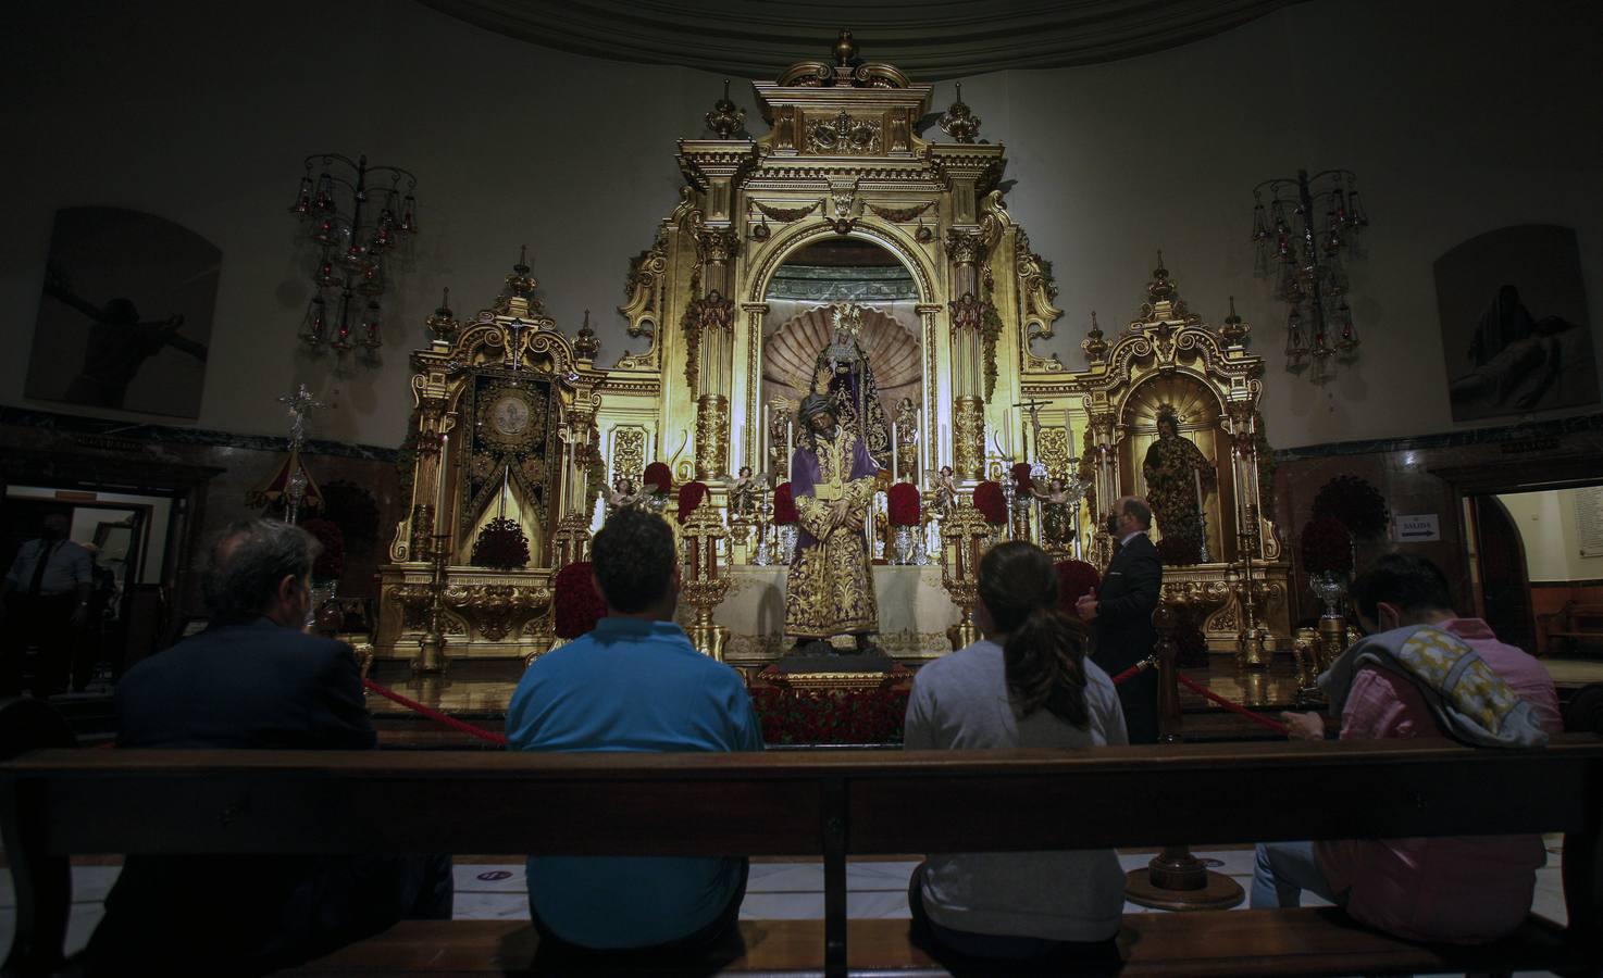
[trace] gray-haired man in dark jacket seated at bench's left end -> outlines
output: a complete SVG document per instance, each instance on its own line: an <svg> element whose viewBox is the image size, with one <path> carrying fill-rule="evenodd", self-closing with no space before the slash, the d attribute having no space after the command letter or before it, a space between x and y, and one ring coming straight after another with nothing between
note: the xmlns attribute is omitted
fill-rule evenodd
<svg viewBox="0 0 1603 978"><path fill-rule="evenodd" d="M303 631L316 552L300 527L229 527L205 578L210 627L122 679L117 746L373 748L351 648ZM130 856L88 970L258 975L450 904L447 856Z"/></svg>

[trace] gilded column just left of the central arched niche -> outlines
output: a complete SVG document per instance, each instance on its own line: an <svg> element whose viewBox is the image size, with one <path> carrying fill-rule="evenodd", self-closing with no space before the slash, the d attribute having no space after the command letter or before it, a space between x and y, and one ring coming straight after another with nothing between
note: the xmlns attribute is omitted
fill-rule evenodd
<svg viewBox="0 0 1603 978"><path fill-rule="evenodd" d="M701 333L696 397L696 477L713 479L729 471L729 387L734 365L734 301L731 269L741 238L729 227L702 227L696 250L702 261L702 285L696 328Z"/></svg>

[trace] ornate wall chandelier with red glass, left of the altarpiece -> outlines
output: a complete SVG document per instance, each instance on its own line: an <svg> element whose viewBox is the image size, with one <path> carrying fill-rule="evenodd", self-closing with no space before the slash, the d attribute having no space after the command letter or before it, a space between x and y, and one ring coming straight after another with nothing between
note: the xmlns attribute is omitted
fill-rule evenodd
<svg viewBox="0 0 1603 978"><path fill-rule="evenodd" d="M300 339L340 354L357 346L377 351L383 346L378 298L398 250L417 235L417 178L337 152L313 154L305 166L290 213L317 258Z"/></svg>

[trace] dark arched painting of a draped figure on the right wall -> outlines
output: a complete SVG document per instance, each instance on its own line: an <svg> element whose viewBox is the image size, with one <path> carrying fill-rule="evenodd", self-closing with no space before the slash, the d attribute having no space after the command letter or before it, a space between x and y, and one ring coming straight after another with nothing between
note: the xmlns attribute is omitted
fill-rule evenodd
<svg viewBox="0 0 1603 978"><path fill-rule="evenodd" d="M1489 230L1435 267L1454 421L1598 402L1573 227Z"/></svg>

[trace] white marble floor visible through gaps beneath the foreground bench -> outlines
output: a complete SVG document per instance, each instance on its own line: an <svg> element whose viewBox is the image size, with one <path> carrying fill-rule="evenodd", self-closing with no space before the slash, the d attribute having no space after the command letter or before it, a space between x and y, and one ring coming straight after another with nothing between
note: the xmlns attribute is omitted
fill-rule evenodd
<svg viewBox="0 0 1603 978"><path fill-rule="evenodd" d="M1565 893L1560 868L1563 852L1560 839L1550 837L1547 866L1537 872L1534 911L1563 922ZM1233 848L1221 852L1197 852L1202 860L1215 860L1215 869L1242 885L1252 885L1252 850ZM1151 860L1151 852L1124 852L1119 863L1125 871L1141 868ZM851 917L907 917L907 879L917 861L875 860L846 866L846 912ZM67 927L67 952L75 952L88 941L103 914L103 901L117 879L117 866L72 868L72 917ZM457 919L529 919L529 901L524 888L523 863L458 863L455 866L455 916ZM1306 896L1306 904L1322 903ZM1125 904L1125 912L1162 912ZM747 882L741 919L745 920L808 920L824 917L824 866L821 863L753 863ZM11 892L11 872L0 869L0 949L11 946L16 925L16 898ZM0 954L3 957L3 954Z"/></svg>

